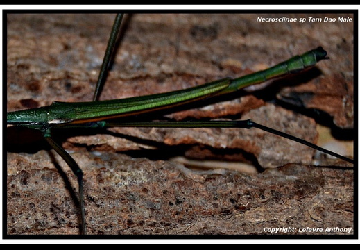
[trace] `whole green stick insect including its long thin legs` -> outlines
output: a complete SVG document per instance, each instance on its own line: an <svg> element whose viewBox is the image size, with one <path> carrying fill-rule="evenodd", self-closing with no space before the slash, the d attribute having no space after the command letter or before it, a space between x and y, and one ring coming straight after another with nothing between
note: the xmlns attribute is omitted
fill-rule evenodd
<svg viewBox="0 0 360 250"><path fill-rule="evenodd" d="M117 17L117 20L121 22L121 16ZM118 29L118 28L117 28ZM112 37L116 37L112 33ZM109 45L107 51L112 51L113 44ZM108 54L108 53L106 53ZM185 103L191 103L202 99L208 99L210 97L218 97L220 95L229 94L241 90L249 85L262 83L272 78L291 74L293 72L299 72L303 69L313 67L320 60L323 60L327 56L326 51L318 47L307 51L300 56L294 56L283 63L277 64L271 68L265 69L260 72L255 72L247 76L239 78L223 78L218 81L206 83L204 85L198 85L193 88L185 90L178 90L173 92L165 92L161 94L151 94L142 97L130 97L126 99L114 99L108 101L90 101L90 102L77 102L77 103L65 103L54 101L50 106L44 106L40 108L33 108L28 110L19 110L15 112L7 113L7 124L22 126L26 128L32 128L39 130L43 133L45 140L51 145L51 147L59 153L59 155L65 160L65 162L71 167L71 170L78 178L79 187L79 201L80 201L80 214L81 224L80 228L82 233L86 233L85 224L85 208L83 201L83 172L76 163L76 161L65 151L62 147L55 142L51 135L53 131L64 128L80 127L80 128L109 128L114 126L137 126L137 127L185 127L185 128L200 128L200 127L214 127L214 128L252 128L256 127L270 133L284 136L291 140L296 140L302 144L306 144L309 147L318 149L325 153L329 153L332 156L336 156L350 163L354 163L352 159L340 156L331 151L322 149L310 142L295 138L292 135L286 135L280 131L275 131L272 128L267 128L260 124L256 124L250 120L246 121L209 121L209 122L127 122L126 117L132 115L138 115L141 113L148 113L153 110L162 110L171 108L174 106L184 105ZM108 65L110 56L103 63L103 72ZM100 76L99 78L102 78ZM103 79L99 79L98 85L103 82ZM99 87L98 87L99 88ZM98 90L96 88L96 90ZM98 92L98 91L96 91ZM98 94L94 95L96 100ZM114 118L123 118L123 122L114 122Z"/></svg>

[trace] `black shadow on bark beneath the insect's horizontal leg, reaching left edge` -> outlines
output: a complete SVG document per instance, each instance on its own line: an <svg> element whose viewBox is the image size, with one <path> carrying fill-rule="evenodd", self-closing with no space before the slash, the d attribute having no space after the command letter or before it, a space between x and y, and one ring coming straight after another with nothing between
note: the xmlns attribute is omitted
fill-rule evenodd
<svg viewBox="0 0 360 250"><path fill-rule="evenodd" d="M163 142L157 142L153 140L147 140L144 138L137 138L136 136L126 135L123 133L114 133L112 131L108 131L104 128L68 128L66 129L66 133L64 129L58 129L53 131L53 140L58 142L58 144L62 144L67 141L67 138L72 136L91 136L98 134L106 134L112 135L116 138L123 138L126 140L130 140L132 142L138 144L146 144L150 147L155 147L156 149L139 149L139 150L128 150L121 151L120 153L126 154L133 158L148 158L149 160L169 160L175 156L186 156L187 151L190 151L193 147L198 147L198 144L180 144L180 145L168 145ZM65 172L62 172L60 165L56 162L53 153L50 151L51 147L46 143L44 138L42 137L42 133L39 131L34 131L28 128L22 127L10 127L8 128L7 133L7 151L10 152L25 152L25 153L36 153L40 150L48 150L49 155L51 156L52 162L55 167L59 170L61 176L65 181L65 185L69 188L71 192L71 196L74 201L78 204L78 199L76 194L74 194L74 190L71 189L71 185L69 183L69 179L67 178ZM21 135L24 140L13 140L13 136ZM85 145L75 145L78 147L86 147L87 150L92 151L96 146L85 146ZM219 160L221 156L231 156L230 158L241 158L246 159L248 163L251 163L257 168L258 172L264 171L262 167L257 162L257 158L250 153L247 153L243 149L214 149L212 147L207 147L205 145L200 145L202 149L206 149L211 152L210 157L205 157L204 160ZM187 157L187 156L186 156ZM187 157L189 158L189 157ZM196 158L199 160L199 158ZM229 160L231 161L231 160Z"/></svg>

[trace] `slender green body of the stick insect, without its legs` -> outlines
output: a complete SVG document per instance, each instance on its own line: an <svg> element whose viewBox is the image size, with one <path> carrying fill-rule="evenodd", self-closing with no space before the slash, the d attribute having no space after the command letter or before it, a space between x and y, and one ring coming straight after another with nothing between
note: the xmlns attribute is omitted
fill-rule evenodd
<svg viewBox="0 0 360 250"><path fill-rule="evenodd" d="M54 101L50 106L19 110L7 113L7 123L28 128L40 129L65 126L70 124L84 124L104 119L123 117L149 110L180 106L191 101L198 101L207 97L228 94L249 85L262 83L271 78L298 72L312 67L326 58L326 51L318 47L301 56L294 56L278 65L239 78L224 78L211 83L205 83L193 88L151 94L142 97L114 99L108 101L89 101L79 103L65 103Z"/></svg>

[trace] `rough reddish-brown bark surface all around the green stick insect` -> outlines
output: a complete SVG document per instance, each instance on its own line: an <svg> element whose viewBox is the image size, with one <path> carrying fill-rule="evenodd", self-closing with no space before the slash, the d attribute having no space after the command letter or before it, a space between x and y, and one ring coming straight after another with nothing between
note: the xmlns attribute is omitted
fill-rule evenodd
<svg viewBox="0 0 360 250"><path fill-rule="evenodd" d="M237 77L321 45L331 60L314 69L275 81L264 90L240 92L214 105L200 103L166 116L250 118L316 142L316 122L323 117L314 117L315 122L289 106L273 104L278 98L300 110L322 110L335 126L347 128L342 135L350 133L353 139L354 24L257 22L257 17L268 16L283 15L130 15L101 99ZM309 16L352 17L286 14ZM8 111L52 101L90 101L113 18L8 15ZM78 233L76 202L55 164L66 169L71 187L76 187L68 167L58 156L54 160L46 153L49 148L41 135L15 128L7 128L6 133L7 233ZM62 131L54 136L85 172L89 233L262 234L265 227L353 225L351 169L287 165L344 164L314 161L313 150L256 129L114 128L95 135ZM351 145L350 153L343 154L351 154ZM255 165L247 172L284 167L262 174L192 172L167 161L175 156ZM213 162L215 168L218 161Z"/></svg>

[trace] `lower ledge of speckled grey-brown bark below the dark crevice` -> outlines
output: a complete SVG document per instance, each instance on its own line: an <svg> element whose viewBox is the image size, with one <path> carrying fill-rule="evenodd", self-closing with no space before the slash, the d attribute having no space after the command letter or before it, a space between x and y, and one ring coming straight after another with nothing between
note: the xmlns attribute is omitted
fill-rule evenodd
<svg viewBox="0 0 360 250"><path fill-rule="evenodd" d="M35 157L41 155L46 153ZM12 157L17 160L10 154L10 163ZM58 170L47 167L51 160L34 164L30 156L21 157L22 165L37 167L8 176L8 233L78 233L74 200ZM74 158L88 163L83 170L91 234L252 235L267 234L266 228L353 228L352 169L289 164L243 174L196 172L116 153L79 152ZM76 184L70 171L67 175Z"/></svg>

